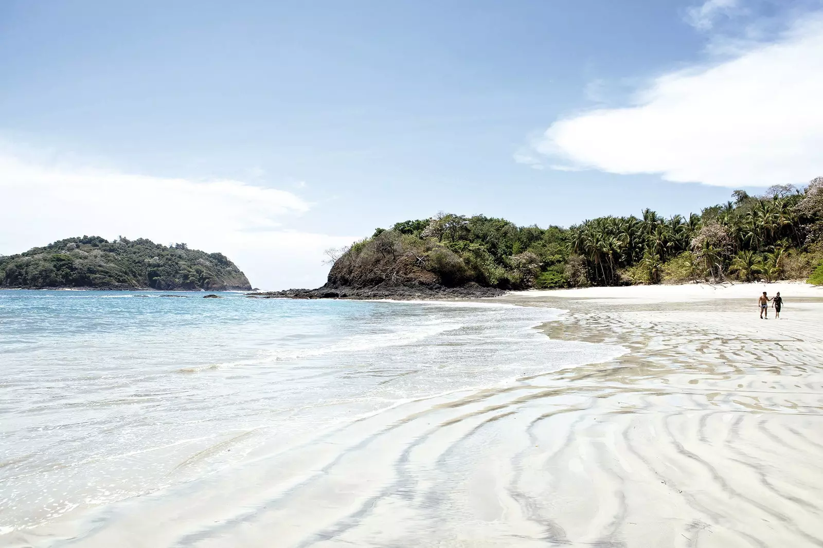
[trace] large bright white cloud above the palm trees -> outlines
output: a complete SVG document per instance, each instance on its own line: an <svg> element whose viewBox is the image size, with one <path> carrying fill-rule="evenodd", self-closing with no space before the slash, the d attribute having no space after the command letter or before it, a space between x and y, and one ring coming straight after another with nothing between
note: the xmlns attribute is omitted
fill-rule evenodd
<svg viewBox="0 0 823 548"><path fill-rule="evenodd" d="M534 148L563 165L718 186L823 173L823 16L709 67L663 74L635 105L560 119Z"/></svg>

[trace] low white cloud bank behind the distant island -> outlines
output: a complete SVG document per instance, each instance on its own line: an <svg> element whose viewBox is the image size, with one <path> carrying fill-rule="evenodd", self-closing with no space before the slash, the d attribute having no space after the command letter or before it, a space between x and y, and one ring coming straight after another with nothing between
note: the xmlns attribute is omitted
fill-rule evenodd
<svg viewBox="0 0 823 548"><path fill-rule="evenodd" d="M264 289L322 285L323 249L354 240L284 229L286 217L309 210L286 191L58 165L4 151L0 204L3 254L77 235L186 242L225 253Z"/></svg>

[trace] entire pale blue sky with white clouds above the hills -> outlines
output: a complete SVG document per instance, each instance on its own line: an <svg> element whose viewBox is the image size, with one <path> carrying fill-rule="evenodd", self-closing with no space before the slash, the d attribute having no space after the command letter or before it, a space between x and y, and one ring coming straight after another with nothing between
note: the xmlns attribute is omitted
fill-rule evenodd
<svg viewBox="0 0 823 548"><path fill-rule="evenodd" d="M569 226L823 174L823 0L0 2L0 254L316 287L438 211Z"/></svg>

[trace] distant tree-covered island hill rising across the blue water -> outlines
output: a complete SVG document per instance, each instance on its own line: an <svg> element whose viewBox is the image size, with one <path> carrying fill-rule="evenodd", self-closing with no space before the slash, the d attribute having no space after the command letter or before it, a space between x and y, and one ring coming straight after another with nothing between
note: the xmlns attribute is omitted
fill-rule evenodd
<svg viewBox="0 0 823 548"><path fill-rule="evenodd" d="M251 290L222 253L155 244L148 239L100 236L61 239L26 253L0 257L0 287L105 290Z"/></svg>

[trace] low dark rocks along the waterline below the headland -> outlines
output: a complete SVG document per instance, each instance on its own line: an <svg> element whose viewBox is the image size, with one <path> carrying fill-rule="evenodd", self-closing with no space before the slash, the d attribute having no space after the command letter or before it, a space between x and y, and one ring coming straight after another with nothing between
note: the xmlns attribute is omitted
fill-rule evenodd
<svg viewBox="0 0 823 548"><path fill-rule="evenodd" d="M451 300L485 299L505 295L505 290L467 284L459 287L445 286L400 286L379 284L373 287L323 286L314 290L291 289L247 293L255 299L354 299L354 300Z"/></svg>

